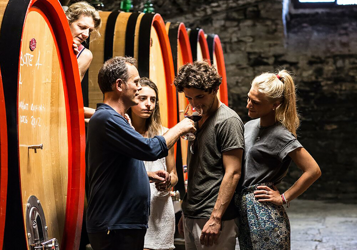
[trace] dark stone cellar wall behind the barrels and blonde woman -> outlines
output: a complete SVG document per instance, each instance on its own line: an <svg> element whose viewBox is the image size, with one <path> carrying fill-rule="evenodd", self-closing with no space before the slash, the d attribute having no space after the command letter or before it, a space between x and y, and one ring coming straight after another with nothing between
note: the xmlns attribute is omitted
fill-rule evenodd
<svg viewBox="0 0 357 250"><path fill-rule="evenodd" d="M106 11L120 7L120 1L102 2ZM134 0L134 11L141 11L145 2ZM165 21L220 36L229 106L243 122L250 119L246 96L256 75L281 68L295 73L301 114L298 140L322 171L300 198L356 202L357 7L298 9L288 0L152 3ZM280 191L301 173L292 164Z"/></svg>

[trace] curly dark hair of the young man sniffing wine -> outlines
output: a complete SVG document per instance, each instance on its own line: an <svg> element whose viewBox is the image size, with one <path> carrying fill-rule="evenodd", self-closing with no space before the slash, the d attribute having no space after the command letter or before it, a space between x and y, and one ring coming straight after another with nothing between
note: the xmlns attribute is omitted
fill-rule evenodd
<svg viewBox="0 0 357 250"><path fill-rule="evenodd" d="M198 88L211 93L218 89L221 83L222 77L215 66L205 61L195 61L181 66L174 81L178 92L183 92L183 88Z"/></svg>

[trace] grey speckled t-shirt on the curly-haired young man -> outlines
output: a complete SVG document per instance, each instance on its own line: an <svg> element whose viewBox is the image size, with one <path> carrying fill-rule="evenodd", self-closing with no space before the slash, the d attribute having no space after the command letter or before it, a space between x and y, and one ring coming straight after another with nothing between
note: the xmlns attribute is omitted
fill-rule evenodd
<svg viewBox="0 0 357 250"><path fill-rule="evenodd" d="M197 122L195 123L197 128ZM210 218L225 174L222 153L244 148L244 126L232 109L222 104L196 132L188 143L187 193L183 197L183 214L191 218ZM193 154L190 152L193 143ZM222 220L237 217L231 201Z"/></svg>

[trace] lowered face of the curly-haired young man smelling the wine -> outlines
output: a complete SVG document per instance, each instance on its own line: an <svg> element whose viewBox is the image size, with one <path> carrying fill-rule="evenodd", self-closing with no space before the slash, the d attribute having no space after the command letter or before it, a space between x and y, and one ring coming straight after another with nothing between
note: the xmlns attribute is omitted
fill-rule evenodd
<svg viewBox="0 0 357 250"><path fill-rule="evenodd" d="M217 91L209 93L198 88L183 88L183 93L191 106L202 107L202 114L207 114L210 111L217 96Z"/></svg>

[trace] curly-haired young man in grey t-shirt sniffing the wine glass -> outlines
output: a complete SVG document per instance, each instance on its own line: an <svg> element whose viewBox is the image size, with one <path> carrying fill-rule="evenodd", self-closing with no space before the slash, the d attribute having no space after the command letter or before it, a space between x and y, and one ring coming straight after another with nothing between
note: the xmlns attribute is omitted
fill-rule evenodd
<svg viewBox="0 0 357 250"><path fill-rule="evenodd" d="M202 107L196 139L188 142L187 193L178 224L186 250L235 249L237 209L232 197L241 175L244 126L217 98L222 77L214 66L196 61L182 66L174 81L193 107Z"/></svg>

